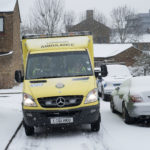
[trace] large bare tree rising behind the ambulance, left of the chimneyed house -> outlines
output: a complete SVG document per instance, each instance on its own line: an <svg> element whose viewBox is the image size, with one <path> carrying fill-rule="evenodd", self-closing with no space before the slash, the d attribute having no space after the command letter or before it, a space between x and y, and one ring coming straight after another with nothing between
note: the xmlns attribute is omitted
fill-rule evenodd
<svg viewBox="0 0 150 150"><path fill-rule="evenodd" d="M59 30L63 17L62 0L36 0L32 11L32 28L36 33L53 34Z"/></svg>

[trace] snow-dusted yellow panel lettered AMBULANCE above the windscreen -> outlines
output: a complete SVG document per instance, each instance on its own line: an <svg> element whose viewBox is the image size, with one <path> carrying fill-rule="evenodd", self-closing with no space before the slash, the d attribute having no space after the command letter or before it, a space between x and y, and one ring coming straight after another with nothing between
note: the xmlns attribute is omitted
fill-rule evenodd
<svg viewBox="0 0 150 150"><path fill-rule="evenodd" d="M29 50L44 50L44 49L75 49L87 48L89 43L88 37L59 37L59 38L39 38L27 39L26 45Z"/></svg>

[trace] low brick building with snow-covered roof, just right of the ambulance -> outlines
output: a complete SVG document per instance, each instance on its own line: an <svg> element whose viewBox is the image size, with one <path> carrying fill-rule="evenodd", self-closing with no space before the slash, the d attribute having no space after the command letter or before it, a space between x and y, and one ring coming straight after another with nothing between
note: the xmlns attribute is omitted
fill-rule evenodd
<svg viewBox="0 0 150 150"><path fill-rule="evenodd" d="M142 51L133 47L132 44L95 44L94 60L95 66L102 62L121 63L132 66Z"/></svg>

